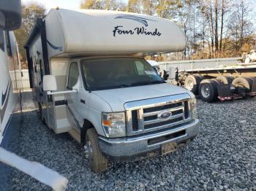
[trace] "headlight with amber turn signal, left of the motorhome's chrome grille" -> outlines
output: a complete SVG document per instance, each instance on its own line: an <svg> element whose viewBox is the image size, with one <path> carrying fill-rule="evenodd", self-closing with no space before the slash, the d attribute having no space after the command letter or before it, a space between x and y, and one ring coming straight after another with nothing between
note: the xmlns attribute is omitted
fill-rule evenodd
<svg viewBox="0 0 256 191"><path fill-rule="evenodd" d="M110 138L126 136L124 112L102 113L102 127Z"/></svg>

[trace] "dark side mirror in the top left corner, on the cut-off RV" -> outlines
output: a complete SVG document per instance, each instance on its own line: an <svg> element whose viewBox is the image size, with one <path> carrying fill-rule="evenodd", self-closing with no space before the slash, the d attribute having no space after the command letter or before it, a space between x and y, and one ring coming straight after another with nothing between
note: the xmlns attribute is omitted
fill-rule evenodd
<svg viewBox="0 0 256 191"><path fill-rule="evenodd" d="M21 25L21 1L0 1L0 28L4 31L13 31Z"/></svg>

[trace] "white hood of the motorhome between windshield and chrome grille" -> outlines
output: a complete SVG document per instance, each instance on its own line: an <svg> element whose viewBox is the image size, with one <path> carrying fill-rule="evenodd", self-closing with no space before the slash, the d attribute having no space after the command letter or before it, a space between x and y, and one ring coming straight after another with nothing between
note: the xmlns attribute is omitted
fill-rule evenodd
<svg viewBox="0 0 256 191"><path fill-rule="evenodd" d="M124 104L130 101L139 101L181 93L188 93L191 98L195 97L189 90L168 83L99 90L93 93L106 101L113 112L124 111Z"/></svg>

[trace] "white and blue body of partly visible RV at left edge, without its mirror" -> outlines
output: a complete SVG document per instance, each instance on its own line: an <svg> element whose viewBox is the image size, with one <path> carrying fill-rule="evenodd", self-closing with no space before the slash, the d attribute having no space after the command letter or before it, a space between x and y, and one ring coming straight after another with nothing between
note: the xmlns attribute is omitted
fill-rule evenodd
<svg viewBox="0 0 256 191"><path fill-rule="evenodd" d="M18 46L12 31L0 30L0 147L13 152L18 143L22 81ZM12 170L0 163L0 190L10 184Z"/></svg>

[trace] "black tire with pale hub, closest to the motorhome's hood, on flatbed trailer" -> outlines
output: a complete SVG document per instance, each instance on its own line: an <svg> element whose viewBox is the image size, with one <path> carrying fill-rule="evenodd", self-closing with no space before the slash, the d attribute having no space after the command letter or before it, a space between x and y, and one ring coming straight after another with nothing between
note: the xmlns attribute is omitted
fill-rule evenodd
<svg viewBox="0 0 256 191"><path fill-rule="evenodd" d="M217 80L203 79L199 85L200 98L208 103L217 101L217 84Z"/></svg>

